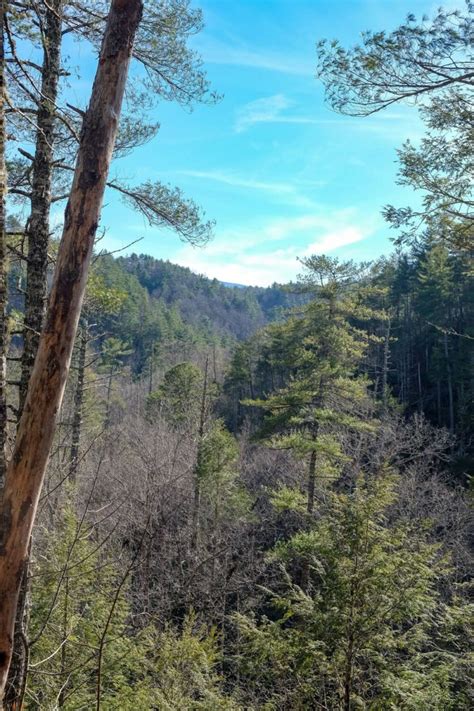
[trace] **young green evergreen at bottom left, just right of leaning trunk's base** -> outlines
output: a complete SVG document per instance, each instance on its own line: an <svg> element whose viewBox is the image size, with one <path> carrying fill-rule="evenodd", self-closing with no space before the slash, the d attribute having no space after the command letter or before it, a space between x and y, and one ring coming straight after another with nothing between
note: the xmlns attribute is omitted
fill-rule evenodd
<svg viewBox="0 0 474 711"><path fill-rule="evenodd" d="M146 635L132 632L123 563L100 550L70 505L33 568L26 708L151 708ZM99 677L99 654L102 670Z"/></svg>

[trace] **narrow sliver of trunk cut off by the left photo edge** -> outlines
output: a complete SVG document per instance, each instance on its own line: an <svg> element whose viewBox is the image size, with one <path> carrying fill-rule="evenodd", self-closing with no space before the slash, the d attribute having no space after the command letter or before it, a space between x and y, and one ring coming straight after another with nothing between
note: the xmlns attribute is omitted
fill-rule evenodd
<svg viewBox="0 0 474 711"><path fill-rule="evenodd" d="M7 249L5 235L5 47L3 26L6 3L0 1L0 488L7 471Z"/></svg>

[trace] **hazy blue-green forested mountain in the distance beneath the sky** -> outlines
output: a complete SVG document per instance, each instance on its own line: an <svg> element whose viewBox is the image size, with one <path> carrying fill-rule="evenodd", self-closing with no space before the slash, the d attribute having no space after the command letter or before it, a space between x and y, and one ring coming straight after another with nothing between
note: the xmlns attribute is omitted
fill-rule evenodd
<svg viewBox="0 0 474 711"><path fill-rule="evenodd" d="M120 315L100 312L94 328L131 349L135 374L148 368L150 359L169 360L171 352L174 360L187 360L210 344L227 347L245 340L303 298L281 284L224 284L146 254L104 255L94 272L106 289L125 297Z"/></svg>

